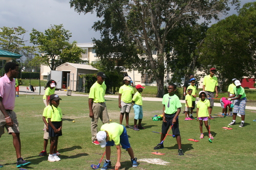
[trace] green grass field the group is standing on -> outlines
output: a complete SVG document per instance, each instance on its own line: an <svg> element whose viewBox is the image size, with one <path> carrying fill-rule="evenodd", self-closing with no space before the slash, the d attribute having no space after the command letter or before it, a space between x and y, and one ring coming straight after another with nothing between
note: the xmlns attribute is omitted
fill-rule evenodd
<svg viewBox="0 0 256 170"><path fill-rule="evenodd" d="M104 152L99 145L91 141L90 117L88 98L80 96L61 96L59 107L63 112L63 136L59 137L58 151L61 161L49 162L48 156L39 157L43 147L42 111L44 103L42 95L20 95L16 98L15 112L19 120L20 137L22 140L22 155L25 160L31 161L31 165L25 169L92 169L91 164L98 164ZM106 99L109 116L112 122L119 122L119 108L116 99ZM182 109L183 110L183 109ZM214 107L212 114L221 111L220 107ZM231 117L217 117L210 122L211 133L215 139L208 141L207 132L204 128L205 138L199 139L200 130L197 120L184 121L184 114L180 114L180 131L184 156L178 156L178 146L175 138L167 136L164 141L164 149L153 148L160 140L161 121L154 122L152 117L161 114L161 102L143 102L144 117L142 125L146 128L140 131L127 129L129 140L138 158L139 166L131 167L128 153L122 150L121 168L124 169L254 169L255 166L255 143L256 118L255 112L246 110L245 127L239 128L241 118L237 118L237 125L232 130L224 130L222 127L231 122ZM130 115L130 125L133 125L133 109ZM75 120L75 123L72 122ZM100 122L99 127L102 125ZM187 139L198 139L199 142ZM16 168L15 151L12 145L11 135L4 134L0 139L0 164L1 169ZM152 152L161 152L165 155L154 155ZM47 148L49 152L49 145ZM144 159L141 160L141 159ZM145 162L145 159L151 163ZM160 159L169 162L165 165L153 164ZM116 149L112 147L113 168L116 162ZM102 167L103 162L101 163ZM113 169L112 168L112 169ZM17 168L16 168L17 169Z"/></svg>

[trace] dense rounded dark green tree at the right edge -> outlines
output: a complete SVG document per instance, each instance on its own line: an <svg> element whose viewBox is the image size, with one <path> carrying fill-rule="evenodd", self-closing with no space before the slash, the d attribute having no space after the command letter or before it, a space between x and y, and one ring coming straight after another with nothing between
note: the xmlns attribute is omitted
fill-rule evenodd
<svg viewBox="0 0 256 170"><path fill-rule="evenodd" d="M255 77L256 2L247 3L239 15L231 15L208 29L200 48L202 70L218 70L219 84L231 79Z"/></svg>

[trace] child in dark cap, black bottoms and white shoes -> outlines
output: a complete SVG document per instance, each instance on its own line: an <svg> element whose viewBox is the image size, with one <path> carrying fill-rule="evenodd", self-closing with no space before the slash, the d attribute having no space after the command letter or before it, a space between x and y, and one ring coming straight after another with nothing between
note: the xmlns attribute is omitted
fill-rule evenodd
<svg viewBox="0 0 256 170"><path fill-rule="evenodd" d="M49 136L51 137L50 154L48 161L55 162L60 161L60 158L56 155L58 147L58 138L62 136L62 112L59 106L59 96L57 94L50 95L51 108L47 111L47 118L49 126Z"/></svg>

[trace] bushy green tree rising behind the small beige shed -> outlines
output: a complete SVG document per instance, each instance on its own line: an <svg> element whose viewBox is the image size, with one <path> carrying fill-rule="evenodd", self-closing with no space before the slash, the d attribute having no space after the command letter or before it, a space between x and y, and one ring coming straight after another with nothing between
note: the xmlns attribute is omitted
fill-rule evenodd
<svg viewBox="0 0 256 170"><path fill-rule="evenodd" d="M81 63L83 50L76 45L76 41L70 43L71 33L62 25L54 25L45 30L45 33L35 29L30 33L30 41L38 45L41 56L36 56L42 64L48 65L51 70L65 63Z"/></svg>

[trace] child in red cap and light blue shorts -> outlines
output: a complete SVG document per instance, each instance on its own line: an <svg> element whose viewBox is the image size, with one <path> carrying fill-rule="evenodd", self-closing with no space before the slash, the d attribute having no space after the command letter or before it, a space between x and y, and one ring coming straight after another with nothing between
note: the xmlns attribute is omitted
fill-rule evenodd
<svg viewBox="0 0 256 170"><path fill-rule="evenodd" d="M134 127L133 130L139 131L139 129L145 129L144 127L141 126L141 121L143 118L143 111L142 111L142 96L141 92L143 91L142 85L138 84L135 86L137 89L137 92L133 96L133 109L134 109ZM137 125L137 120L139 119L139 125Z"/></svg>

